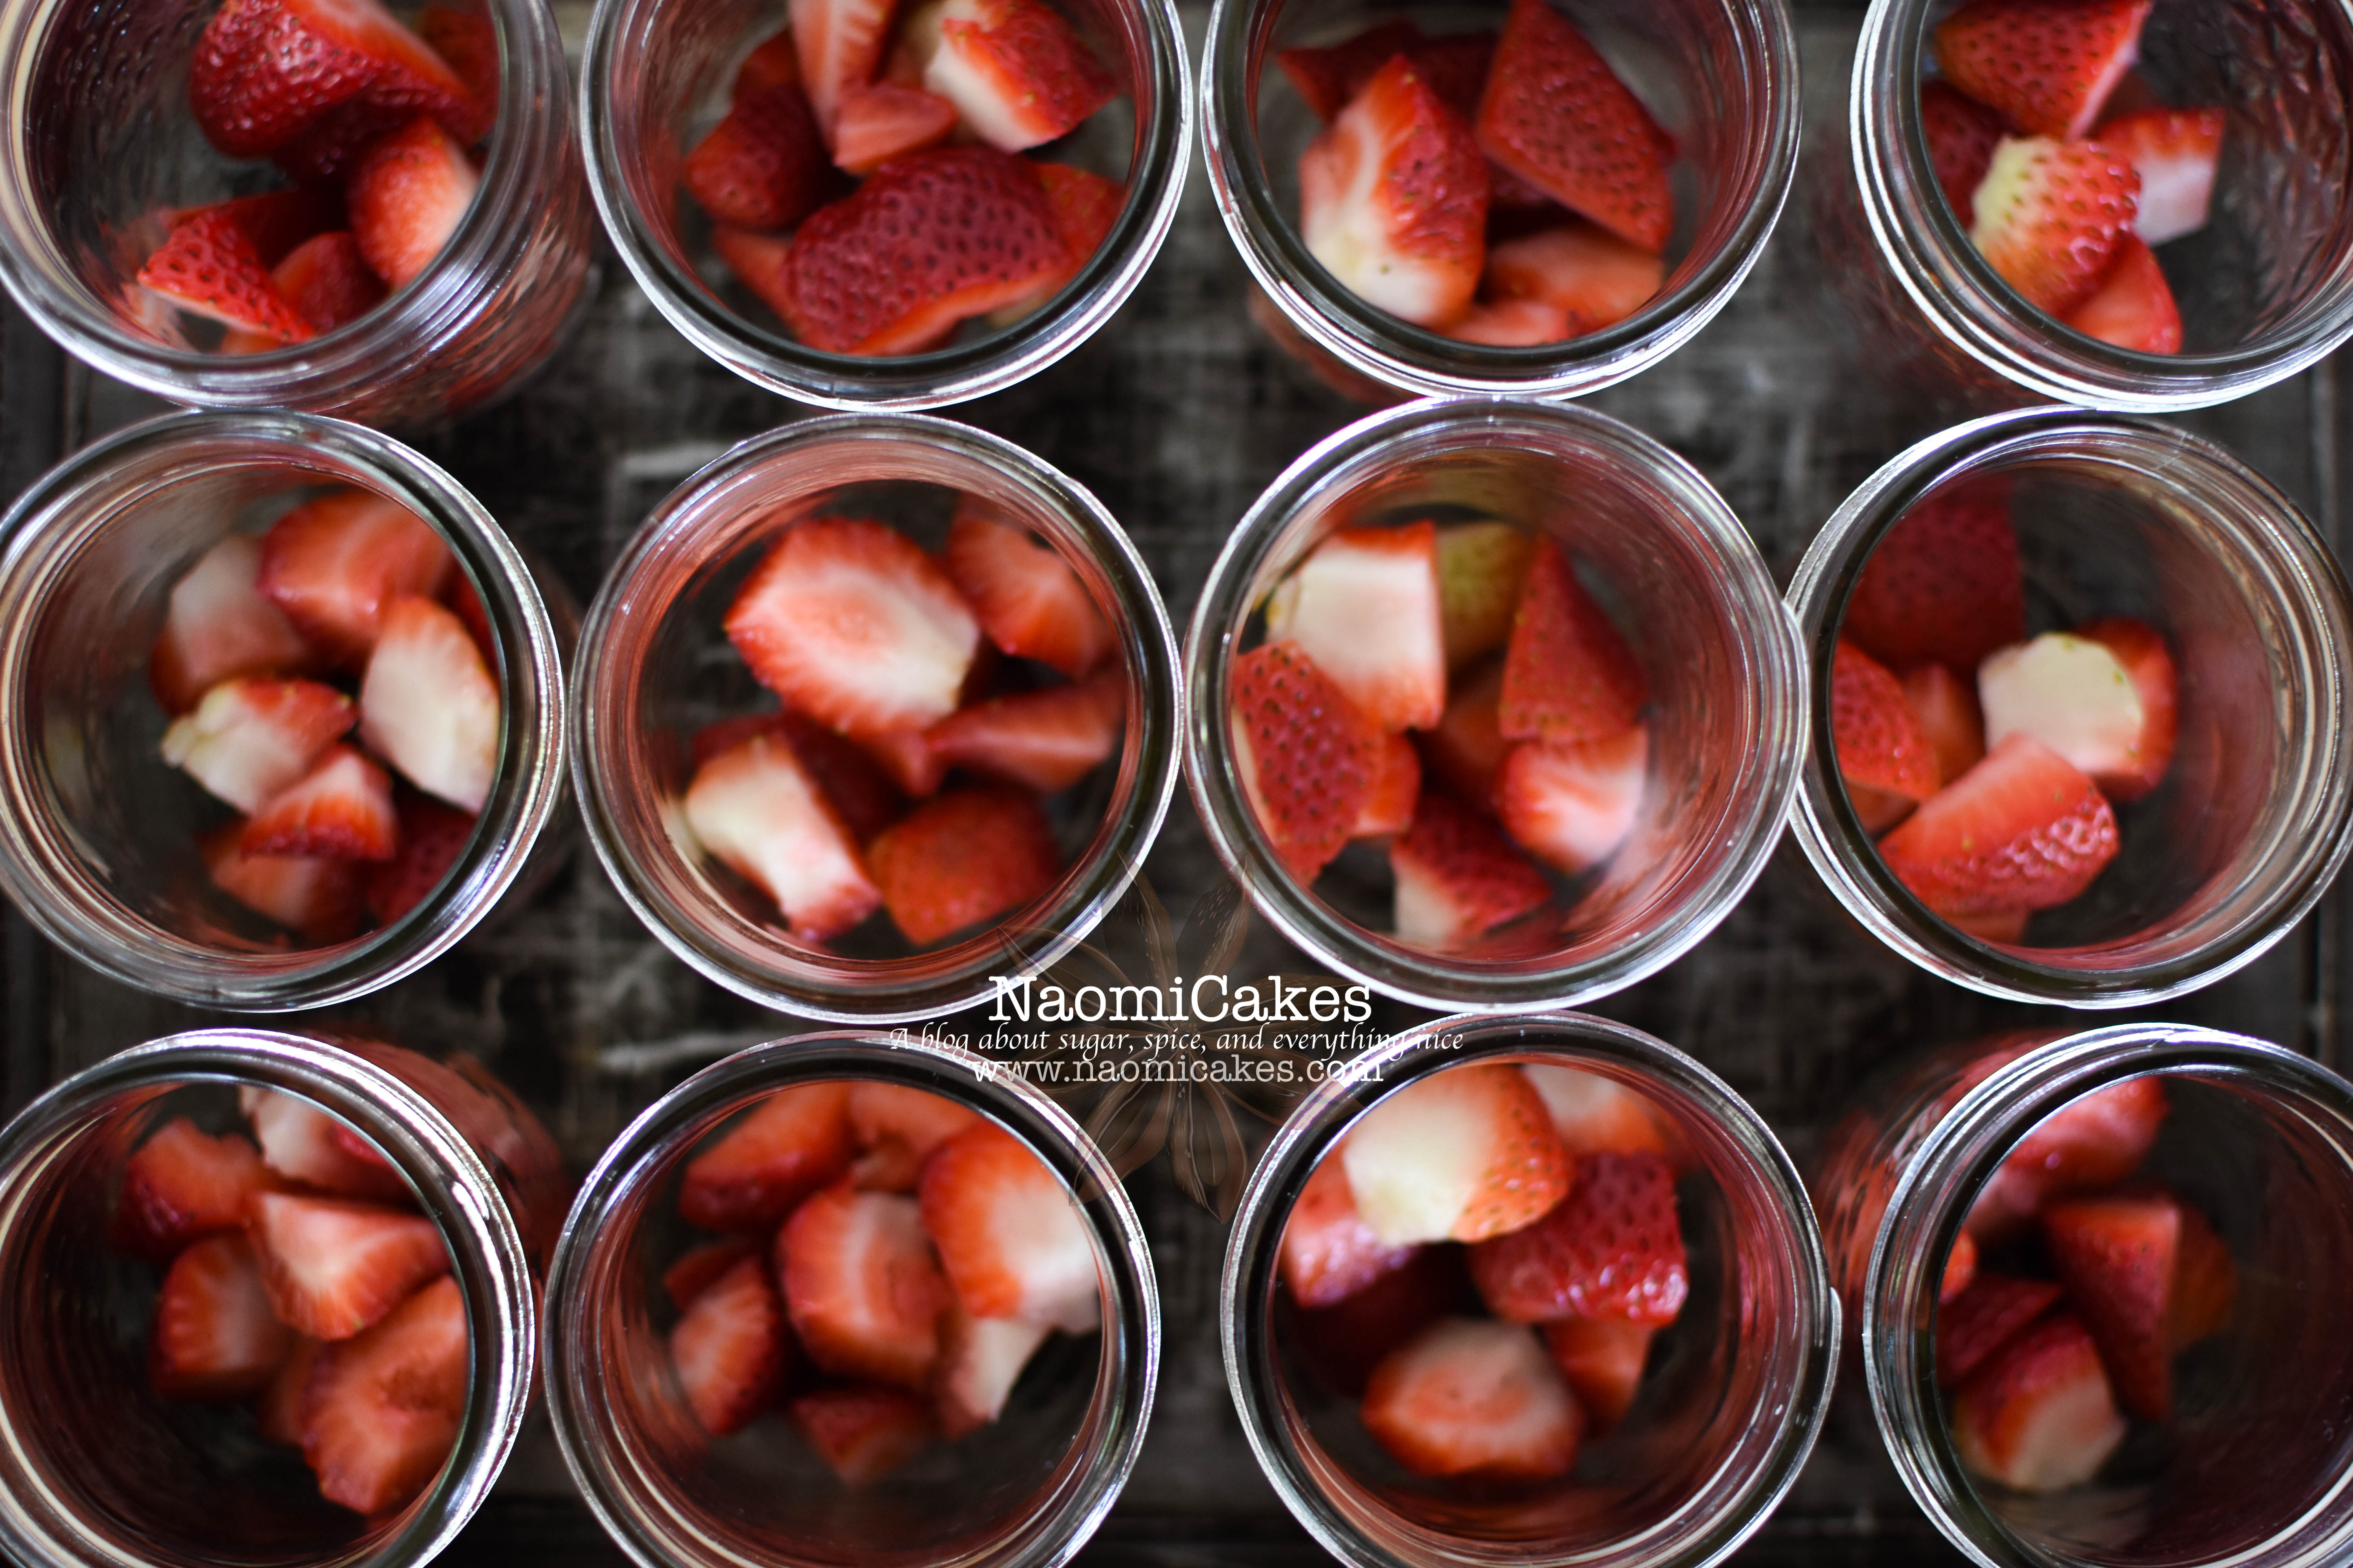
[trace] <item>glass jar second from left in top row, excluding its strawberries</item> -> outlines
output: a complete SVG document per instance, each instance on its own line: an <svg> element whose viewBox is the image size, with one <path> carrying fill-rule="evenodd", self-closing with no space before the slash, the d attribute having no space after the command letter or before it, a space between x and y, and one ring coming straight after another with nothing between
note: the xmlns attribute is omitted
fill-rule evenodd
<svg viewBox="0 0 2353 1568"><path fill-rule="evenodd" d="M727 108L736 61L781 24L774 0L600 0L581 59L588 188L621 261L689 343L734 374L826 409L936 409L1000 393L1085 343L1134 294L1176 221L1193 150L1193 78L1169 0L1073 0L1068 16L1122 96L1054 155L1127 186L1111 233L1052 301L1000 331L861 357L795 341L732 280L680 165Z"/></svg>

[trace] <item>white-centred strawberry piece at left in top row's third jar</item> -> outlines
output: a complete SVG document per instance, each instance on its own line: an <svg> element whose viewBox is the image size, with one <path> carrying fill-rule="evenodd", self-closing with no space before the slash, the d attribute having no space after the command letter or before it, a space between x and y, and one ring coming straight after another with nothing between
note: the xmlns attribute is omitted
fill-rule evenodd
<svg viewBox="0 0 2353 1568"><path fill-rule="evenodd" d="M1402 54L1299 155L1299 237L1365 303L1447 327L1487 259L1487 162Z"/></svg>

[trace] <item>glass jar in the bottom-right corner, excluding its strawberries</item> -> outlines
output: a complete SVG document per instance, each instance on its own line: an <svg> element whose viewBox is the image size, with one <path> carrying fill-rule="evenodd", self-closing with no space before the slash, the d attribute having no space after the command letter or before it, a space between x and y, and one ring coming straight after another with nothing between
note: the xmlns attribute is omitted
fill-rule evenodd
<svg viewBox="0 0 2353 1568"><path fill-rule="evenodd" d="M2141 1173L2228 1246L2228 1326L2174 1363L2172 1422L2137 1429L2097 1481L2042 1495L1977 1481L1946 1425L1953 1394L1937 1387L1946 1260L2028 1131L2141 1079L2160 1081L2167 1105ZM2334 1072L2165 1023L1939 1051L1826 1140L1814 1194L1887 1450L1972 1561L2275 1568L2353 1549L2339 1420L2353 1356L2337 1331L2353 1260L2353 1086Z"/></svg>

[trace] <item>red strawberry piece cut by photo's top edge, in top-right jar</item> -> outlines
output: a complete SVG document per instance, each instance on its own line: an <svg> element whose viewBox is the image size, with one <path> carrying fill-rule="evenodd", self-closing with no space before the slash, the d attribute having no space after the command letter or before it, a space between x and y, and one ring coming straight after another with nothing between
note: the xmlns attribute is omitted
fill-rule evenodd
<svg viewBox="0 0 2353 1568"><path fill-rule="evenodd" d="M2012 129L2089 134L2141 54L2151 0L1969 0L1937 24L1946 80Z"/></svg>

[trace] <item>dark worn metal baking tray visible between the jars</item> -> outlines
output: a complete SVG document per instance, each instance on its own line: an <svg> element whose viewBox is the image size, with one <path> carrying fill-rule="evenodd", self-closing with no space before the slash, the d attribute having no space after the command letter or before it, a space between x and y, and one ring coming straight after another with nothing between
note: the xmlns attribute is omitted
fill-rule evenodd
<svg viewBox="0 0 2353 1568"><path fill-rule="evenodd" d="M1181 9L1198 59L1207 0L1184 0ZM1784 581L1859 480L1960 414L1868 378L1871 357L1833 296L1838 268L1868 261L1824 256L1812 233L1831 181L1852 179L1845 92L1861 9L1795 7L1807 155L1755 275L1687 348L1591 400L1694 461ZM558 12L576 40L586 5L560 0ZM1167 249L1120 315L1033 381L948 409L1092 487L1127 524L1179 625L1249 501L1299 451L1362 414L1282 357L1245 320L1242 299L1242 266L1195 160ZM0 308L0 496L158 409L66 360L21 315ZM586 604L621 541L673 484L727 444L805 414L704 360L607 252L593 306L555 360L504 404L419 447ZM2181 423L2287 489L2334 543L2344 418L2337 364L2322 362ZM1146 877L1179 922L1224 879L1181 799ZM2162 1016L2339 1063L2341 910L2344 891L2332 889L2264 959ZM1129 940L1118 931L1127 922L1127 910L1113 917L1108 945ZM1238 976L1308 969L1264 922L1235 964ZM14 910L5 914L0 980L7 1110L111 1051L216 1020L96 978L49 950ZM1800 1164L1878 1063L2038 1016L1932 980L1889 954L1838 910L1788 842L1706 943L1595 1011L1708 1063L1772 1121ZM296 1027L334 1018L485 1058L532 1100L576 1171L694 1067L807 1027L689 973L638 926L586 851L424 973ZM1374 1023L1402 1027L1419 1018L1381 1004ZM1266 1121L1245 1107L1240 1131L1245 1140L1264 1138ZM1226 1399L1217 1352L1224 1220L1186 1190L1174 1157L1139 1168L1132 1190L1153 1232L1165 1298L1162 1385L1144 1460L1080 1561L1322 1561L1259 1476ZM1812 1465L1737 1561L1960 1561L1904 1495L1852 1366L1845 1371ZM624 1559L572 1493L546 1425L534 1422L447 1561L536 1568Z"/></svg>

